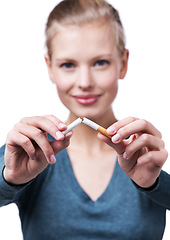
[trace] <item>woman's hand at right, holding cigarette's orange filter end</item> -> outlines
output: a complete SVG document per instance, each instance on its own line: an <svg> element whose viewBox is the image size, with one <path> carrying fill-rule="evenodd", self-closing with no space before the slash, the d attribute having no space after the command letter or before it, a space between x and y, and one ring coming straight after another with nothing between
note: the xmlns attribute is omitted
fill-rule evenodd
<svg viewBox="0 0 170 240"><path fill-rule="evenodd" d="M114 123L107 133L111 140L98 136L116 150L124 172L142 188L153 186L168 157L161 133L150 122L133 117Z"/></svg>

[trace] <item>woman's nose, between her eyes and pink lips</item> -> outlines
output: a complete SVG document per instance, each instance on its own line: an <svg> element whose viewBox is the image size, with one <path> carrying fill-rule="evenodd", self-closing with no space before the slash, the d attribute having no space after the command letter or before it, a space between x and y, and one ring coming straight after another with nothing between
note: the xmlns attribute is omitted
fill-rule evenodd
<svg viewBox="0 0 170 240"><path fill-rule="evenodd" d="M94 87L94 79L90 67L82 66L78 74L78 87L82 90L89 90Z"/></svg>

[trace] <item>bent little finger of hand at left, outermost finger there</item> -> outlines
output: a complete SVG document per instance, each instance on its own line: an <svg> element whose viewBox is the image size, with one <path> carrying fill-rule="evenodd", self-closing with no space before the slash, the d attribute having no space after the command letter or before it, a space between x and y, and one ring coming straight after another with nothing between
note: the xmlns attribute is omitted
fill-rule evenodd
<svg viewBox="0 0 170 240"><path fill-rule="evenodd" d="M20 146L31 159L35 159L35 148L31 140L17 131L11 131L7 136L6 147L12 149Z"/></svg>

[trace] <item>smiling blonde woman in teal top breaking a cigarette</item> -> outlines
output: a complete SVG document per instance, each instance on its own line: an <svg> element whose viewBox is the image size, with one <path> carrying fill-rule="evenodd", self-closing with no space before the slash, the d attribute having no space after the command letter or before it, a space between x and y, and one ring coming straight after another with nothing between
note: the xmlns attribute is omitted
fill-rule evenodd
<svg viewBox="0 0 170 240"><path fill-rule="evenodd" d="M170 208L161 133L143 119L118 121L111 106L129 55L117 11L103 0L62 1L49 15L46 45L50 79L70 114L66 124L23 118L8 134L1 205L18 205L24 239L161 239ZM64 135L79 116L112 138L84 124Z"/></svg>

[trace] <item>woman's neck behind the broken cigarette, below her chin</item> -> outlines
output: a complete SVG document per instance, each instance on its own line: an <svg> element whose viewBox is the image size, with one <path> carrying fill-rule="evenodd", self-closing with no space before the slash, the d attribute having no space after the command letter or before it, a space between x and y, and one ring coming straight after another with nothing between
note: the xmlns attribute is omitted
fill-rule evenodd
<svg viewBox="0 0 170 240"><path fill-rule="evenodd" d="M70 113L66 124L70 124L76 118L78 117ZM105 128L108 128L111 124L116 122L116 118L112 110L109 111L106 115L100 116L100 118L98 117L89 119ZM106 149L108 147L109 146L97 138L97 131L83 123L73 130L70 148L92 152L96 150L101 151L102 149Z"/></svg>

